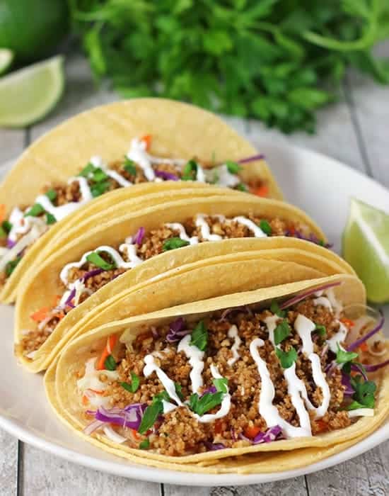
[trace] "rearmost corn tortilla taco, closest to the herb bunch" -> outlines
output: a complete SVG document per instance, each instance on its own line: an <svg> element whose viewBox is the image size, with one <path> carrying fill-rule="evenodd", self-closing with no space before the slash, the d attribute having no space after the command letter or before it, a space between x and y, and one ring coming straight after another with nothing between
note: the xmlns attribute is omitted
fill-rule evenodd
<svg viewBox="0 0 389 496"><path fill-rule="evenodd" d="M134 99L59 125L0 186L0 300L15 298L25 252L44 234L40 248L47 246L57 222L117 188L179 180L281 198L262 155L215 115L185 103Z"/></svg>

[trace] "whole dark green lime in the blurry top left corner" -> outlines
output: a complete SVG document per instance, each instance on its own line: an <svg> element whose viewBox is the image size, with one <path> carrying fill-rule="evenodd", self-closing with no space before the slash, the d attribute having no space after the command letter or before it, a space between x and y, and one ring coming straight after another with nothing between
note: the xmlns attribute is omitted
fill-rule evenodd
<svg viewBox="0 0 389 496"><path fill-rule="evenodd" d="M66 0L0 0L0 47L19 62L50 53L69 28Z"/></svg>

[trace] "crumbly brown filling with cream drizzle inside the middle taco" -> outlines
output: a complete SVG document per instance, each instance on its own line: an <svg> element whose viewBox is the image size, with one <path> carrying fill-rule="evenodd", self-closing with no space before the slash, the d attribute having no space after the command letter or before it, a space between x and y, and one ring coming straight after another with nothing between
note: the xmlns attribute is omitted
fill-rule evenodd
<svg viewBox="0 0 389 496"><path fill-rule="evenodd" d="M254 215L226 218L223 215L197 214L185 222L171 222L145 232L141 227L118 246L102 246L83 254L79 261L66 264L59 274L63 293L56 295L52 306L37 310L30 317L35 329L25 332L21 354L33 359L35 351L54 331L58 322L89 295L112 279L133 269L143 261L163 252L206 241L239 237L268 237L294 234L319 244L320 239L298 222L280 218L259 218Z"/></svg>

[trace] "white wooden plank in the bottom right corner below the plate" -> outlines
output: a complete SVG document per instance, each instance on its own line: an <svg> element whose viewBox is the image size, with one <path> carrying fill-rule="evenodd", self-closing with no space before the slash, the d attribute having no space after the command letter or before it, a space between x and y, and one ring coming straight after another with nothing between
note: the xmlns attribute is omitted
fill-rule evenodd
<svg viewBox="0 0 389 496"><path fill-rule="evenodd" d="M309 475L310 495L385 496L389 494L389 443L338 466Z"/></svg>

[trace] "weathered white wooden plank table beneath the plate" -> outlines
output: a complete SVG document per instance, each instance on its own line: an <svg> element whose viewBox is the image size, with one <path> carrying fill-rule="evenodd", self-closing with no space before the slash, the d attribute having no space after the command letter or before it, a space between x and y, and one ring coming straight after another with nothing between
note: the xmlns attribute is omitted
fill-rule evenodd
<svg viewBox="0 0 389 496"><path fill-rule="evenodd" d="M383 52L389 55L389 45ZM71 115L117 99L106 87L95 87L81 56L67 57L66 72L64 98L47 119L25 130L0 130L0 164L17 157L42 133ZM339 159L389 187L388 86L348 74L339 103L320 111L313 136L284 136L253 120L226 121L258 150L263 136L271 136L277 143L287 140ZM0 495L385 496L389 495L388 460L389 443L385 442L347 463L291 480L247 487L190 488L98 473L28 446L0 429Z"/></svg>

